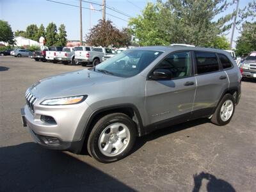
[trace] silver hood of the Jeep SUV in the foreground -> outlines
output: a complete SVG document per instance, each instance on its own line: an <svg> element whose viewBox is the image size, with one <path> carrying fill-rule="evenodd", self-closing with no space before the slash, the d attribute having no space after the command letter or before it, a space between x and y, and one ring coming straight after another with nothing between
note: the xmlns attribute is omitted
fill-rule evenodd
<svg viewBox="0 0 256 192"><path fill-rule="evenodd" d="M111 83L121 79L123 78L84 69L42 79L33 84L29 90L40 100L87 95L90 92L90 86Z"/></svg>

